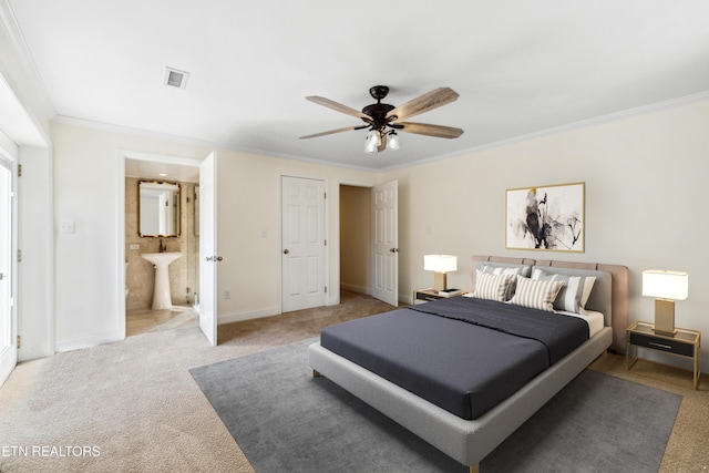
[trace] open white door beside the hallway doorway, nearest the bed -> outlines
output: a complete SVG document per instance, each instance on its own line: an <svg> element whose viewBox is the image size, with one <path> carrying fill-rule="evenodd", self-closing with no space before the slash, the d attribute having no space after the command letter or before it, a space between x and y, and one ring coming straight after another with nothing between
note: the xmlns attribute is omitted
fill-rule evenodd
<svg viewBox="0 0 709 473"><path fill-rule="evenodd" d="M372 296L399 305L399 184L397 181L372 187L372 230L374 284Z"/></svg>

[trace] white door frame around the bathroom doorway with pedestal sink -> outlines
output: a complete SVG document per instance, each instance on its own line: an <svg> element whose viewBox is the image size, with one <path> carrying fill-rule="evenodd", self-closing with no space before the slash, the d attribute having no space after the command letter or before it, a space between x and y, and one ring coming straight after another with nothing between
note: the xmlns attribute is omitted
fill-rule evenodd
<svg viewBox="0 0 709 473"><path fill-rule="evenodd" d="M119 235L116 238L116 301L117 301L117 336L125 340L125 160L147 161L153 163L179 164L183 166L199 167L202 160L184 156L171 156L165 154L145 153L133 150L119 150L116 152L116 213Z"/></svg>

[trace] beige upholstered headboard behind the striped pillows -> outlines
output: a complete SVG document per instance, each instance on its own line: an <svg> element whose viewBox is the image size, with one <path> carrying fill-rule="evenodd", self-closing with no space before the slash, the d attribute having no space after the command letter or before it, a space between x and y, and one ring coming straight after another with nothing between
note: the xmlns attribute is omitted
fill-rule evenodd
<svg viewBox="0 0 709 473"><path fill-rule="evenodd" d="M629 270L626 266L607 265L598 263L574 263L558 261L551 259L531 259L531 258L512 258L504 256L472 256L470 265L470 288L475 289L475 264L495 263L502 265L528 265L528 266L546 266L552 268L564 268L566 270L594 270L610 274L610 327L613 327L613 345L612 349L623 353L625 352L625 333L629 320ZM599 291L606 290L595 288L598 296ZM589 302L594 298L594 291L589 298ZM606 313L606 316L608 316ZM607 320L608 321L608 320Z"/></svg>

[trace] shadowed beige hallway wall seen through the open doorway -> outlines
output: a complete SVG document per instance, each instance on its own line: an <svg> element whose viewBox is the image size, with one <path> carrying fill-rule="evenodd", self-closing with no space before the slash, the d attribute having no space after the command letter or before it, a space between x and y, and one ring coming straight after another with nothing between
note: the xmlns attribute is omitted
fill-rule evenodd
<svg viewBox="0 0 709 473"><path fill-rule="evenodd" d="M340 186L340 287L371 292L371 188Z"/></svg>

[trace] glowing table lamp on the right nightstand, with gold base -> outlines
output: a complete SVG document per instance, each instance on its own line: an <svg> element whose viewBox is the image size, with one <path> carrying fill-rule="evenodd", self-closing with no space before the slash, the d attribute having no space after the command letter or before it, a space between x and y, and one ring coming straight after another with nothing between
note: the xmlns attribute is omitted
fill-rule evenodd
<svg viewBox="0 0 709 473"><path fill-rule="evenodd" d="M648 269L643 271L643 296L655 298L655 333L674 337L675 301L688 296L689 275L682 271Z"/></svg>

